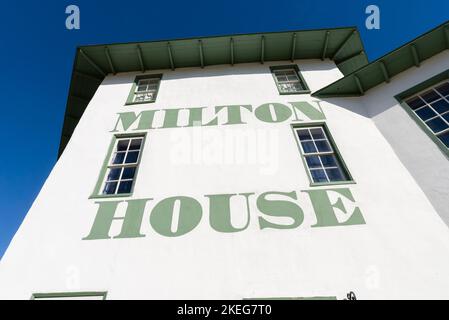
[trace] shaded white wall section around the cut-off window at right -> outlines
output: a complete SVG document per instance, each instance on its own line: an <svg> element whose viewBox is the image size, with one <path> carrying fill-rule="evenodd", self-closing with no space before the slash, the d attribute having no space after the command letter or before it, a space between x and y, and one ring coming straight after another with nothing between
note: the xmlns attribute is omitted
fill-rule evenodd
<svg viewBox="0 0 449 320"><path fill-rule="evenodd" d="M449 52L425 60L369 91L363 99L369 116L420 185L441 218L449 225L449 158L426 135L394 98L449 70Z"/></svg>

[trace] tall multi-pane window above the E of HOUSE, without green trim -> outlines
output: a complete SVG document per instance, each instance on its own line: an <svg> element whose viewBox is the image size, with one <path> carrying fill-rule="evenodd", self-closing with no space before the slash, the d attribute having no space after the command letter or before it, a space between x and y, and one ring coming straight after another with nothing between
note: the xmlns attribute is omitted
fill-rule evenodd
<svg viewBox="0 0 449 320"><path fill-rule="evenodd" d="M294 128L313 184L352 181L324 125Z"/></svg>

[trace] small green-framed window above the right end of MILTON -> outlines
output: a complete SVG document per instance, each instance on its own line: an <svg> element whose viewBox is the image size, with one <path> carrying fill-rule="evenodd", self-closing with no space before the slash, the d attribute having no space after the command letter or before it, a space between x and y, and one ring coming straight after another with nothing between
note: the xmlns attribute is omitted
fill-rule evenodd
<svg viewBox="0 0 449 320"><path fill-rule="evenodd" d="M310 92L296 65L271 67L271 73L273 74L280 94Z"/></svg>

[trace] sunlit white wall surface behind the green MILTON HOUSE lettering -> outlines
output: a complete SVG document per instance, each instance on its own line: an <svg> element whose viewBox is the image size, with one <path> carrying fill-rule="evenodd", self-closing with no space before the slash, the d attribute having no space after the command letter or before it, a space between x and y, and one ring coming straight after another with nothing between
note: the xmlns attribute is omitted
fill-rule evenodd
<svg viewBox="0 0 449 320"><path fill-rule="evenodd" d="M313 91L341 77L330 61L296 62ZM133 195L154 198L143 219L146 237L81 240L97 211L88 198L117 112L200 106L212 112L226 104L255 108L266 102L316 100L309 95L280 96L269 65L164 70L157 102L135 106L124 106L135 74L108 76L1 261L0 299L64 291L108 291L108 299L341 299L349 291L359 299L449 298L447 226L357 99L321 105L357 182L348 187L366 225L310 228L315 216L308 197L300 192L310 189L309 180L291 123L266 124L245 114L247 125L202 132L219 137L268 133L274 137L268 153L273 170L266 170L261 158L255 164L176 164L172 146L178 133L192 137L195 129L149 131ZM253 197L247 230L222 234L210 228L204 195L257 196L266 191L296 191L305 213L303 224L294 230L259 230ZM173 195L200 200L203 218L191 233L165 238L151 229L149 213L155 203ZM353 210L350 202L345 205ZM241 223L239 213L235 212L236 225Z"/></svg>

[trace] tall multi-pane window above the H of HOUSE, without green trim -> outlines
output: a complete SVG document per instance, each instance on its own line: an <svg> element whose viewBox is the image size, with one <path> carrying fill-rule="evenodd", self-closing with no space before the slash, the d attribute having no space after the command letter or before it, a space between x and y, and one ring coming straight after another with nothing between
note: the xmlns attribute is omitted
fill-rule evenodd
<svg viewBox="0 0 449 320"><path fill-rule="evenodd" d="M108 165L103 195L131 193L143 137L117 139Z"/></svg>

